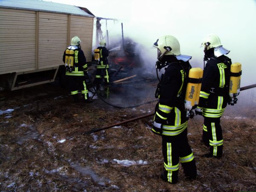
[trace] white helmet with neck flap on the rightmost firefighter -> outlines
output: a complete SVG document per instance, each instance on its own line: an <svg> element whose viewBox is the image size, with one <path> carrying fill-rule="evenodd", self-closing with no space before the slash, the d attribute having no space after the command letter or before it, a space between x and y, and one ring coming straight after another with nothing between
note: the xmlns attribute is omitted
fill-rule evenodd
<svg viewBox="0 0 256 192"><path fill-rule="evenodd" d="M222 47L220 38L215 34L208 34L201 43L201 47L204 47L204 51L214 48L214 55L219 57L224 54L228 54L230 51Z"/></svg>

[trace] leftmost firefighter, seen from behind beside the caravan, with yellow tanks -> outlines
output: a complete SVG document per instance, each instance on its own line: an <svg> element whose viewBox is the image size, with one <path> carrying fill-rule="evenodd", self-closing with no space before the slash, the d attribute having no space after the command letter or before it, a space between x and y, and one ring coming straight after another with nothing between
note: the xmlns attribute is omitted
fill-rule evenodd
<svg viewBox="0 0 256 192"><path fill-rule="evenodd" d="M86 82L86 78L88 78L86 58L80 44L80 38L77 36L73 37L71 39L70 46L67 47L63 54L63 62L65 63L67 69L66 77L68 88L74 102L79 102L79 90L81 90L82 93L82 102L92 102L89 99Z"/></svg>

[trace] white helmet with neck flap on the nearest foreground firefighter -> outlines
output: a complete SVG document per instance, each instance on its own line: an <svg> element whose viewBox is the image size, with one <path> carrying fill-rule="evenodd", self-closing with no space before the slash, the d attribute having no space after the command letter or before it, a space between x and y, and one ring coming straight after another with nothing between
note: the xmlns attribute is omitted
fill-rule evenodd
<svg viewBox="0 0 256 192"><path fill-rule="evenodd" d="M188 61L191 59L191 56L181 55L180 43L177 38L172 35L163 35L157 39L153 46L157 48L160 54L163 54L167 50L165 55L174 55L178 60Z"/></svg>

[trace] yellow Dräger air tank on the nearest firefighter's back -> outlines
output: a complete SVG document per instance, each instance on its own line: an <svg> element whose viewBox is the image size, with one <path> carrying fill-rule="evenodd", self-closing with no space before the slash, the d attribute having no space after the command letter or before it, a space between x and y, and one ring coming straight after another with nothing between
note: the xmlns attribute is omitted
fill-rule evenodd
<svg viewBox="0 0 256 192"><path fill-rule="evenodd" d="M191 111L192 107L198 104L202 77L203 70L201 68L195 67L189 70L189 82L187 84L185 95L187 117L189 117L189 111Z"/></svg>

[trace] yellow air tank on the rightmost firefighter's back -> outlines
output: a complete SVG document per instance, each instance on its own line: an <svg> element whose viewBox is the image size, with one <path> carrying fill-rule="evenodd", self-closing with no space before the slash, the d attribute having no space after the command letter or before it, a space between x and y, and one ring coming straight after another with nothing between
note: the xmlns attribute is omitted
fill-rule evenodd
<svg viewBox="0 0 256 192"><path fill-rule="evenodd" d="M229 95L231 98L231 105L236 103L236 96L240 93L240 83L241 83L241 63L234 63L230 66L230 87Z"/></svg>

